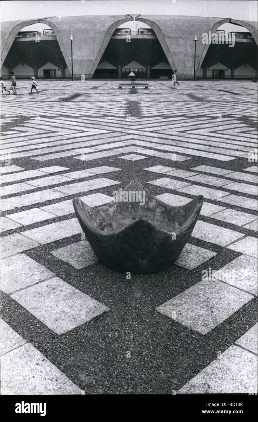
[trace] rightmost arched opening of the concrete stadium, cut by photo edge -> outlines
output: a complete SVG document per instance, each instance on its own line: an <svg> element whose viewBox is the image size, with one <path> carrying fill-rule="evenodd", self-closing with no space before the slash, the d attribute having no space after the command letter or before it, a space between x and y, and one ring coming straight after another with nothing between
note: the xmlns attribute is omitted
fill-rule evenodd
<svg viewBox="0 0 258 422"><path fill-rule="evenodd" d="M224 22L210 32L216 37L213 36L212 42L210 36L211 43L199 68L199 76L207 79L257 78L257 45L250 27Z"/></svg>

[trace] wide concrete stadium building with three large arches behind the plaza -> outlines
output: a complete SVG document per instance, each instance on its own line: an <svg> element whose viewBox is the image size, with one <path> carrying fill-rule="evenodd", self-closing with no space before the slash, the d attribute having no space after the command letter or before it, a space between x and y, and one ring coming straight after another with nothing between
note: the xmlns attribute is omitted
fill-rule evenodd
<svg viewBox="0 0 258 422"><path fill-rule="evenodd" d="M132 33L126 22L135 18L151 30ZM24 27L38 23L51 30L43 34L21 32ZM214 33L225 23L239 26L234 48L228 44L202 43L203 33ZM117 29L124 24L124 29ZM248 32L241 32L242 27ZM13 71L18 77L70 77L71 34L73 74L78 78L81 75L121 78L132 69L144 78L171 76L175 69L180 77L191 78L195 35L198 77L257 77L257 22L168 15L48 17L3 22L1 75L7 77Z"/></svg>

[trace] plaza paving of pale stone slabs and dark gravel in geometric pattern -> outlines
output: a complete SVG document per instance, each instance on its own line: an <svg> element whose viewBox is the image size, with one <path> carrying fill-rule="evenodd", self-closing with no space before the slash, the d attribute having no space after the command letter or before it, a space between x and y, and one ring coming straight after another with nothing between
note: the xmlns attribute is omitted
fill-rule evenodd
<svg viewBox="0 0 258 422"><path fill-rule="evenodd" d="M257 85L18 82L1 97L2 394L257 392ZM204 205L176 265L126 279L72 200L132 178Z"/></svg>

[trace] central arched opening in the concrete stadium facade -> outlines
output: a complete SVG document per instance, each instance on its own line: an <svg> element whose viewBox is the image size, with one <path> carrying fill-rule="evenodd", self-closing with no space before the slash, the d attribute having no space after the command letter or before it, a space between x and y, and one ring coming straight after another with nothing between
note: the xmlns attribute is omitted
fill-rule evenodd
<svg viewBox="0 0 258 422"><path fill-rule="evenodd" d="M174 73L153 28L142 21L124 22L113 30L93 78L171 78Z"/></svg>

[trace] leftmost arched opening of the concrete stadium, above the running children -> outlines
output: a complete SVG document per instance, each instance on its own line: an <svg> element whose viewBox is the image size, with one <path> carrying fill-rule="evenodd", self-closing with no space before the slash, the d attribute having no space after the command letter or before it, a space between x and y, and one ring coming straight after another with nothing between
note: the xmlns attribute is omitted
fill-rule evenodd
<svg viewBox="0 0 258 422"><path fill-rule="evenodd" d="M19 28L3 66L2 77L12 71L16 78L63 78L68 72L54 29L45 23Z"/></svg>

